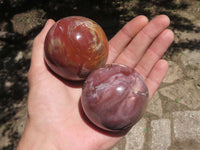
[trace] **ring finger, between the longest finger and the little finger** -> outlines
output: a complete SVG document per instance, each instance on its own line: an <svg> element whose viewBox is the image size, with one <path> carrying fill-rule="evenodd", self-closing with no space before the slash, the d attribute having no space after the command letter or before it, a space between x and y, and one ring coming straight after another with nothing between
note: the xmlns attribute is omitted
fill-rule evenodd
<svg viewBox="0 0 200 150"><path fill-rule="evenodd" d="M162 57L174 39L174 34L171 30L164 30L153 44L147 50L145 55L136 65L136 70L146 78L156 62Z"/></svg>

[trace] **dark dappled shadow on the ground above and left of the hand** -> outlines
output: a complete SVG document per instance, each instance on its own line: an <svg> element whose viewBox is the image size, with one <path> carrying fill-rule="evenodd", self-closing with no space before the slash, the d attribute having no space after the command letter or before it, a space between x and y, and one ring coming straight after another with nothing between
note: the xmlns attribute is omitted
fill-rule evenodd
<svg viewBox="0 0 200 150"><path fill-rule="evenodd" d="M27 96L28 83L27 71L30 57L18 59L22 53L30 53L29 41L42 29L47 18L58 20L65 16L80 15L89 17L98 22L110 39L127 21L137 15L146 15L149 18L158 14L167 14L172 20L172 30L199 32L191 20L177 15L179 10L189 7L189 2L176 3L174 0L0 0L0 124L3 128L2 135L8 133L10 145L3 149L13 149L19 136L12 129L10 122L19 111L21 103ZM36 10L40 23L27 32L16 32L12 22L16 14ZM31 15L31 14L30 14ZM30 19L31 17L29 17ZM19 19L22 22L26 17ZM30 23L32 23L30 21ZM200 45L198 40L187 40L174 43L167 55L171 56L181 48L195 49ZM29 56L29 55L28 55Z"/></svg>

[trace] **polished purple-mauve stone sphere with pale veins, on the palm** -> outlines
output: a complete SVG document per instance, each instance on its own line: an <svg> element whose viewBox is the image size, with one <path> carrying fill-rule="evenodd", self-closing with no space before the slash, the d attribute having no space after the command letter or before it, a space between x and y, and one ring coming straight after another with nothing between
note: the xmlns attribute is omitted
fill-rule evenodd
<svg viewBox="0 0 200 150"><path fill-rule="evenodd" d="M119 64L93 71L84 83L81 104L88 119L108 131L132 127L143 116L148 88L134 69Z"/></svg>

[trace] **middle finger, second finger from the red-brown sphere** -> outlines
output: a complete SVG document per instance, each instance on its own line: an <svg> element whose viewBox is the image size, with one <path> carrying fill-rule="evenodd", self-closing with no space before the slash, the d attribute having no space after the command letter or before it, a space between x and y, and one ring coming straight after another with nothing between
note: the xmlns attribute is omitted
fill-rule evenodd
<svg viewBox="0 0 200 150"><path fill-rule="evenodd" d="M130 42L124 52L122 52L117 58L116 63L121 63L129 67L135 67L150 44L163 30L169 26L169 24L170 20L166 15L159 15L155 17Z"/></svg>

